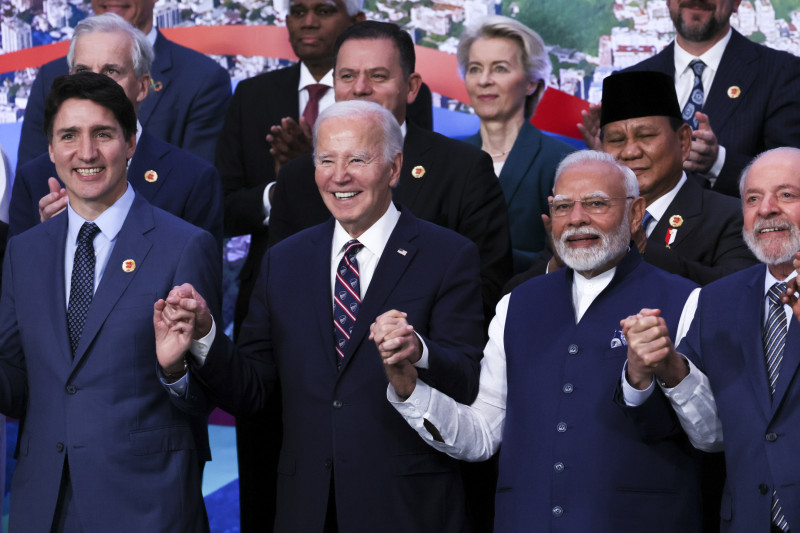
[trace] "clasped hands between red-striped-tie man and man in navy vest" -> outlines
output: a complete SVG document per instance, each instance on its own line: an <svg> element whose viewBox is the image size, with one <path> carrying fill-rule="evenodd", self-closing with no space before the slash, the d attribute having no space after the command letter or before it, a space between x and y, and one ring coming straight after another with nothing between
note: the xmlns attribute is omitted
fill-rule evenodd
<svg viewBox="0 0 800 533"><path fill-rule="evenodd" d="M369 327L369 338L375 342L383 360L386 377L397 395L405 400L417 384L414 363L422 357L422 342L402 311L392 309L380 315Z"/></svg>

